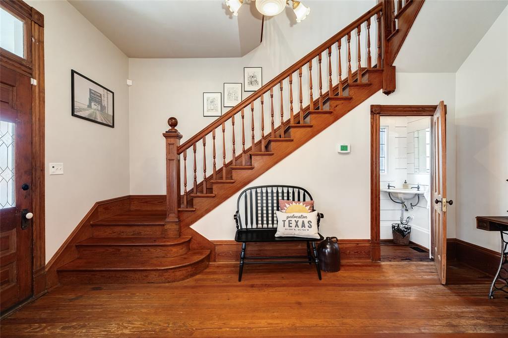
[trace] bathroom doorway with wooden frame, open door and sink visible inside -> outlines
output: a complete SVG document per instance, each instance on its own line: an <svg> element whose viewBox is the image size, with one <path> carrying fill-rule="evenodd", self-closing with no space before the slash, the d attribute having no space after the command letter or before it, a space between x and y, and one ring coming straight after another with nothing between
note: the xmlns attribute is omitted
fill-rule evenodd
<svg viewBox="0 0 508 338"><path fill-rule="evenodd" d="M433 260L446 283L447 205L444 103L371 106L371 259Z"/></svg>

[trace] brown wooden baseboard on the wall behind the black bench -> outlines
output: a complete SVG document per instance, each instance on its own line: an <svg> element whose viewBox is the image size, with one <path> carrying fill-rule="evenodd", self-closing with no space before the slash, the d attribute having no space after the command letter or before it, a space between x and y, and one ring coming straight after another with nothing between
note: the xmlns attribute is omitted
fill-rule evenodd
<svg viewBox="0 0 508 338"><path fill-rule="evenodd" d="M215 245L216 262L235 262L240 260L241 243L235 241L211 241ZM370 261L369 240L339 240L341 261ZM307 245L293 243L249 243L248 256L305 255Z"/></svg>

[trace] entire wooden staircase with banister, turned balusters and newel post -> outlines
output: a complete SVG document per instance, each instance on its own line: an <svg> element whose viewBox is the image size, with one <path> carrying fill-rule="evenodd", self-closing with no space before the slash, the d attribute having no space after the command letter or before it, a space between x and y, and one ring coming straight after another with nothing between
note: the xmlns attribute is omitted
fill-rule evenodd
<svg viewBox="0 0 508 338"><path fill-rule="evenodd" d="M379 2L181 145L170 118L166 210L92 222L78 257L57 269L60 283L165 283L203 271L215 247L190 226L374 93L393 92L392 64L422 5Z"/></svg>

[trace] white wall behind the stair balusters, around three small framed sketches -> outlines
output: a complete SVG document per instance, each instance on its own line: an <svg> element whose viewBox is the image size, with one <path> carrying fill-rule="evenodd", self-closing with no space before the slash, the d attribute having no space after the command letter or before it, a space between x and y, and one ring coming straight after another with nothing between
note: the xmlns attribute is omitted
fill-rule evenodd
<svg viewBox="0 0 508 338"><path fill-rule="evenodd" d="M168 128L167 119L170 116L175 116L178 119L177 128L183 135L182 142L185 141L214 120L211 117L203 117L203 92L223 92L224 82L243 83L243 67L245 66L263 67L263 83L267 83L340 29L360 17L375 3L376 1L373 0L362 2L315 1L311 5L312 14L299 24L294 24L294 14L288 8L286 12L265 21L263 43L241 58L130 59L129 78L134 81L134 85L129 89L131 193L166 193L165 143L162 132ZM362 30L362 43L365 36L365 31ZM376 55L375 37L374 21L371 22L371 54L374 59ZM345 42L342 46L343 70L345 70L344 65L347 65L344 44ZM353 60L356 56L355 50L356 47L352 41ZM336 51L333 50L332 59L334 60L335 53ZM324 54L323 74L328 69L327 60L328 56ZM363 55L363 60L365 61L365 55ZM356 65L354 67L356 69ZM316 85L316 69L317 64L314 64L314 97L317 97L316 90L319 89ZM332 69L335 74L336 62L333 62ZM343 71L342 75L344 73ZM325 90L328 88L326 79L324 75ZM334 83L336 81L337 79L334 79ZM296 82L295 80L295 95ZM302 85L304 88L307 86L305 75ZM284 84L284 88L286 88L284 93L287 93L287 83ZM243 98L250 94L250 92L244 92ZM278 104L277 99L278 93L275 92L276 104ZM307 102L308 96L305 95L304 105ZM228 110L229 108L223 108L223 114ZM259 111L258 107L256 111ZM286 107L284 111L288 114L289 108ZM249 117L249 115L247 116ZM246 123L246 128L249 130L248 118ZM211 144L211 140L208 140L207 144ZM229 142L227 146L229 147ZM228 156L230 154L231 152L228 152ZM198 163L199 165L200 163ZM210 163L207 167L211 167ZM148 172L147 168L149 168ZM199 172L202 173L198 167Z"/></svg>

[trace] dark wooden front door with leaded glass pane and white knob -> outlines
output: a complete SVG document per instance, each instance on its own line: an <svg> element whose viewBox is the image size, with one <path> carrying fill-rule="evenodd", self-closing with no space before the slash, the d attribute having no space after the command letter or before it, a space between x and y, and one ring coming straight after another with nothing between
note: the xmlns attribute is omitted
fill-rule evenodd
<svg viewBox="0 0 508 338"><path fill-rule="evenodd" d="M0 311L32 293L30 78L0 70Z"/></svg>

